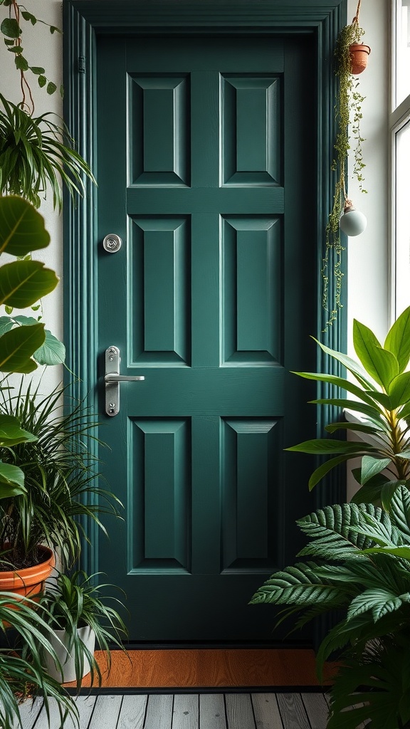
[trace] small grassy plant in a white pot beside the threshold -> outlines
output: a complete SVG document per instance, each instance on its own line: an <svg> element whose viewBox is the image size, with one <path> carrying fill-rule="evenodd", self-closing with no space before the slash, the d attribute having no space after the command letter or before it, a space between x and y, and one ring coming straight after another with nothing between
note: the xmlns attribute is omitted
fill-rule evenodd
<svg viewBox="0 0 410 729"><path fill-rule="evenodd" d="M47 648L43 650L47 674L63 683L76 681L78 688L88 673L91 685L95 675L101 685L101 670L94 656L96 641L106 652L109 670L109 643L122 648L120 638L127 634L118 612L106 604L111 599L121 606L120 601L101 596L101 590L112 585L96 585L96 577L98 574L88 576L82 570L72 574L60 572L40 598L40 605L52 618L55 637L51 636L50 642L58 655L56 661L53 653Z"/></svg>

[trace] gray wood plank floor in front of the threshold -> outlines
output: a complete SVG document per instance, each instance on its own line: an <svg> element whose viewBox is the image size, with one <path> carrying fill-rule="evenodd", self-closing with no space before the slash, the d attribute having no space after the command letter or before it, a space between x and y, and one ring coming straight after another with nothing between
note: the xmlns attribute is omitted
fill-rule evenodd
<svg viewBox="0 0 410 729"><path fill-rule="evenodd" d="M325 729L322 693L189 693L80 696L80 729ZM15 729L48 729L39 701L21 706ZM50 701L50 729L61 729ZM74 729L71 721L63 729Z"/></svg>

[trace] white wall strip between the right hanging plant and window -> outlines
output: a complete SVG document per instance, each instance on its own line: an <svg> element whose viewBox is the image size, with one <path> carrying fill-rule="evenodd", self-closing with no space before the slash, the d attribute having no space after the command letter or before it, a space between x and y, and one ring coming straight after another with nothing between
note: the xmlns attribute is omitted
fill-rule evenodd
<svg viewBox="0 0 410 729"><path fill-rule="evenodd" d="M368 225L348 243L349 353L352 354L352 321L358 319L384 339L389 321L389 6L390 0L362 0L360 26L363 42L371 47L368 67L360 74L363 101L362 136L367 195L349 184L349 198L363 211ZM355 17L357 0L348 2L348 21ZM351 165L352 168L352 165Z"/></svg>

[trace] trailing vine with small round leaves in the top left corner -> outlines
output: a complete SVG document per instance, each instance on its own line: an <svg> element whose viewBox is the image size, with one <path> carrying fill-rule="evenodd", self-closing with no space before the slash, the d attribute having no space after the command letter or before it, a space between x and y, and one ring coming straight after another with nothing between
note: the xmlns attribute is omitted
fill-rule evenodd
<svg viewBox="0 0 410 729"><path fill-rule="evenodd" d="M0 5L8 7L8 17L5 17L1 22L0 32L4 36L4 44L7 47L7 51L14 54L15 66L20 73L20 89L22 94L21 107L28 114L34 113L34 99L31 90L31 85L26 77L26 72L31 71L37 79L37 84L40 88L45 87L48 94L53 94L57 90L57 84L50 81L45 75L45 69L42 66L31 66L25 55L23 55L23 23L29 23L31 26L35 26L36 23L42 23L50 29L50 33L61 33L60 28L51 26L50 23L46 23L45 20L39 20L35 17L28 9L18 3L17 0L0 0ZM60 85L60 93L63 95L63 86Z"/></svg>

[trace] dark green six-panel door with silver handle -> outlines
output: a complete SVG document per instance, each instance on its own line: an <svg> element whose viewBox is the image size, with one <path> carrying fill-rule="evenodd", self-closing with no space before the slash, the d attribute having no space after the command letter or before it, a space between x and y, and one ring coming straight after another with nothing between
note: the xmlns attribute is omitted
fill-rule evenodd
<svg viewBox="0 0 410 729"><path fill-rule="evenodd" d="M101 411L109 346L145 378L101 427L125 521L98 569L127 593L131 639L270 639L273 611L247 602L313 508L283 453L314 436L289 374L315 367L309 39L142 34L97 53Z"/></svg>

